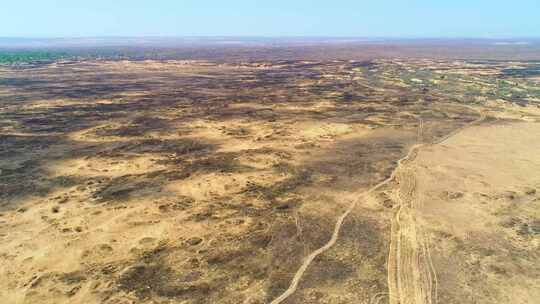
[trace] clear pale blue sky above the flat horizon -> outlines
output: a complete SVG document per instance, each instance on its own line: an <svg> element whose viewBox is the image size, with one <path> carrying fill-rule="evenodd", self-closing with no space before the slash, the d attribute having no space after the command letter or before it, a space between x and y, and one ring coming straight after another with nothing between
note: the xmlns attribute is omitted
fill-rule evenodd
<svg viewBox="0 0 540 304"><path fill-rule="evenodd" d="M540 37L540 0L2 0L0 37Z"/></svg>

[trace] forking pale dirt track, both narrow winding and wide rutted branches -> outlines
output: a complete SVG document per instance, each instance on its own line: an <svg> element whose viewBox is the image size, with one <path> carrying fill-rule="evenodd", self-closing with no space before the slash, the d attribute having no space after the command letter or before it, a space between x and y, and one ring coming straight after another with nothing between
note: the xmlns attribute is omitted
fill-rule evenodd
<svg viewBox="0 0 540 304"><path fill-rule="evenodd" d="M463 129L477 124L485 119L485 116L479 113L480 118L458 128L438 140L431 143L435 145L446 141L453 135L461 132ZM419 134L422 132L422 121L420 122ZM330 240L319 249L313 251L305 259L300 268L296 271L289 288L285 290L279 297L275 298L270 304L279 304L290 297L298 288L298 284L302 276L308 269L313 260L330 249L336 243L343 221L354 209L356 204L369 195L393 180L397 180L400 184L398 193L398 211L392 220L391 241L388 260L388 283L389 292L388 298L391 304L394 303L436 303L437 300L437 279L435 269L431 262L429 247L425 241L425 234L420 231L414 221L414 216L410 210L414 206L415 179L413 168L404 168L406 162L413 160L418 154L419 148L427 144L413 145L407 155L397 161L397 166L392 171L391 175L362 192L360 197L354 200L347 210L338 218L334 231ZM399 177L398 177L399 175ZM403 206L406 206L403 208ZM402 215L403 214L403 215ZM402 218L406 218L403 220ZM405 239L405 241L403 241ZM427 266L426 266L427 265ZM380 301L381 298L378 299ZM378 302L377 301L377 302Z"/></svg>

